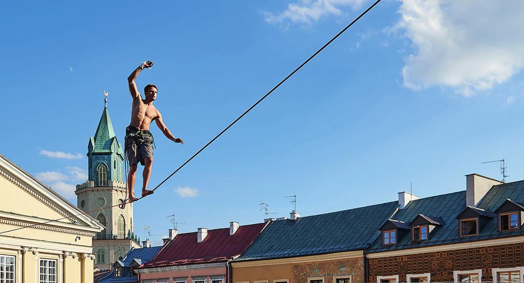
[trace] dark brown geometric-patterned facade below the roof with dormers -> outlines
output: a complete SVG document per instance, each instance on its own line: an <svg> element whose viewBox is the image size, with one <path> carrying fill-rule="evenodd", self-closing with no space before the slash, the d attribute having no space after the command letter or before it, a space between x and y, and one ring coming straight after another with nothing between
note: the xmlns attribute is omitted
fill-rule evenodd
<svg viewBox="0 0 524 283"><path fill-rule="evenodd" d="M474 269L482 269L482 281L493 281L492 268L517 266L524 266L524 243L371 258L368 281L376 282L377 276L399 275L399 281L406 282L407 274L431 273L432 282L453 282L454 270Z"/></svg>

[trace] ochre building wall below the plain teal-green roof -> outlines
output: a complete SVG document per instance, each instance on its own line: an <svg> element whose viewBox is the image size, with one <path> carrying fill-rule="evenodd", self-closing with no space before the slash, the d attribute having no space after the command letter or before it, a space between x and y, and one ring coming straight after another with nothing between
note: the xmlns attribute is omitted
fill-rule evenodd
<svg viewBox="0 0 524 283"><path fill-rule="evenodd" d="M353 282L364 281L362 251L317 256L234 262L233 282L258 280L289 280L289 283L307 283L308 278L323 278L332 283L334 277L351 276Z"/></svg>

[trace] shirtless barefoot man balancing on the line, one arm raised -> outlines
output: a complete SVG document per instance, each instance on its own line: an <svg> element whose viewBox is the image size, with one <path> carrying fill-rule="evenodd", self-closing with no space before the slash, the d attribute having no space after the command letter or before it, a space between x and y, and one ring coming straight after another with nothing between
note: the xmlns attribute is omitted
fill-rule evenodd
<svg viewBox="0 0 524 283"><path fill-rule="evenodd" d="M146 99L142 96L136 88L135 79L144 68L150 68L153 62L146 61L138 66L133 73L127 78L129 83L129 92L133 97L133 107L131 110L131 123L126 128L125 138L125 154L129 161L129 174L127 175L127 186L129 190L129 202L136 201L133 191L136 178L136 169L138 162L144 166L143 178L144 185L142 186L142 197L153 193L152 190L147 189L149 177L151 176L151 166L153 163L153 135L149 132L149 124L155 120L158 128L170 140L184 144L184 141L175 138L162 121L160 112L153 106L153 101L157 98L157 87L155 85L146 85L144 94Z"/></svg>

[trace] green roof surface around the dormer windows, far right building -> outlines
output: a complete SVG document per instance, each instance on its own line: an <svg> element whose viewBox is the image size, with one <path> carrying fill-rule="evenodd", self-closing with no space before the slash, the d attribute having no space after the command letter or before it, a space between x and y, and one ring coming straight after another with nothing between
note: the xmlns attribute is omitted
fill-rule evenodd
<svg viewBox="0 0 524 283"><path fill-rule="evenodd" d="M475 208L475 211L492 217L493 213L490 213L489 211L495 211L508 198L517 202L524 201L524 180L493 186L479 202L477 208ZM479 234L461 237L459 235L459 221L456 219L456 217L461 214L465 207L466 191L412 200L404 209L399 210L392 218L409 222L415 219L418 214L424 214L431 215L432 217L438 217L442 219L445 224L441 227L435 228L435 230L431 232L429 240L427 241L413 243L411 241L411 236L406 235L402 239L399 239L399 243L397 245L383 246L379 238L373 243L372 247L369 248L368 252L386 252L393 250L403 250L406 248L472 242L497 239L499 237L524 235L523 229L499 232L498 219L495 217L489 219L486 226L482 229L482 231L480 231Z"/></svg>

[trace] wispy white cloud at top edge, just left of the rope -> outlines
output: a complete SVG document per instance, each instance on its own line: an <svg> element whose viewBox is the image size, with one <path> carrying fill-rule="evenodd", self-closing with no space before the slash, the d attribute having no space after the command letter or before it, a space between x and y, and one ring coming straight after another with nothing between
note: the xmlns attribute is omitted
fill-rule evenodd
<svg viewBox="0 0 524 283"><path fill-rule="evenodd" d="M343 14L337 6L350 6L353 9L361 7L366 0L301 0L298 3L288 4L288 8L278 15L263 12L266 22L271 24L282 24L283 21L290 20L294 23L318 21L322 16Z"/></svg>

